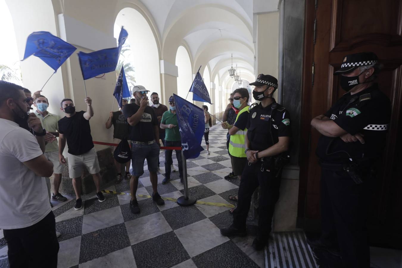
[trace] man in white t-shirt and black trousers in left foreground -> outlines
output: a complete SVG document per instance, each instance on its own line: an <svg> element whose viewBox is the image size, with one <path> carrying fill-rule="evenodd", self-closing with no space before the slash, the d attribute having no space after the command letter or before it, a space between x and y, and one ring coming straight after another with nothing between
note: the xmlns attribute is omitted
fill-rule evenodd
<svg viewBox="0 0 402 268"><path fill-rule="evenodd" d="M24 116L23 90L0 81L0 229L11 268L56 268L59 243L43 178L52 175L53 164L38 144L46 134L41 121L33 113ZM36 138L18 125L24 118Z"/></svg>

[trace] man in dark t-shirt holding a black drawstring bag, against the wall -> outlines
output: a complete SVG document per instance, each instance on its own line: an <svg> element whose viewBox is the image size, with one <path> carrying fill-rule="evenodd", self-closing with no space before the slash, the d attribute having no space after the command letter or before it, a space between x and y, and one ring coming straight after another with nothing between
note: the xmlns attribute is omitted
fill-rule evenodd
<svg viewBox="0 0 402 268"><path fill-rule="evenodd" d="M127 104L127 100L123 99L123 107ZM106 128L110 129L113 125L113 143L120 143L120 141L124 138L128 139L129 134L129 125L127 120L123 115L123 107L116 112L110 112L109 119L106 122ZM113 146L113 151L116 147ZM115 160L116 170L117 170L117 177L116 177L116 184L121 183L123 180L123 176L121 175L121 164ZM125 163L125 175L124 177L129 180L131 178L130 174L130 161Z"/></svg>

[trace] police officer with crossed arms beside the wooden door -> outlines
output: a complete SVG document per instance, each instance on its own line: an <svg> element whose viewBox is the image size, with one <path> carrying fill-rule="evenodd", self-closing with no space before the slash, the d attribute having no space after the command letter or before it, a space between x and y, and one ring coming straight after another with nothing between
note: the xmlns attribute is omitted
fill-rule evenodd
<svg viewBox="0 0 402 268"><path fill-rule="evenodd" d="M334 75L347 93L311 121L322 134L316 149L322 170L322 234L308 243L316 249L340 250L344 267L370 266L369 182L385 147L391 115L390 100L373 82L379 67L371 52L344 57Z"/></svg>

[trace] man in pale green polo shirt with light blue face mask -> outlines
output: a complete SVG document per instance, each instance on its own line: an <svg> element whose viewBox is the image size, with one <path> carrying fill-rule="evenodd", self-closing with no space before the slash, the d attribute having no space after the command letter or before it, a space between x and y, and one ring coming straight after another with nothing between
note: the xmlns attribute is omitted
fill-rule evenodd
<svg viewBox="0 0 402 268"><path fill-rule="evenodd" d="M45 157L47 158L47 160L53 163L54 192L51 196L51 199L59 202L64 202L67 200L67 198L59 193L60 183L62 182L63 165L59 162L59 145L57 144L57 139L55 138L59 137L59 125L57 122L59 121L60 117L58 115L53 115L47 111L49 101L43 95L39 95L37 98L35 98L33 105L37 108L37 110L35 111L36 116L39 117L42 123L42 127L47 132L47 135L45 136L45 141L47 141ZM51 137L53 137L53 139ZM49 180L49 178L47 178L47 180Z"/></svg>

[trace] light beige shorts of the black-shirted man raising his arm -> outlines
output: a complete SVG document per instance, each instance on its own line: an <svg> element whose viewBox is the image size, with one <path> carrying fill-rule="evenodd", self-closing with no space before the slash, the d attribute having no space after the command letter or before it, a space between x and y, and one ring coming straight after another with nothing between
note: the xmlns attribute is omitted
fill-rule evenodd
<svg viewBox="0 0 402 268"><path fill-rule="evenodd" d="M80 178L84 172L84 166L89 174L96 174L100 171L98 155L95 148L81 155L72 155L68 153L68 172L70 178Z"/></svg>

